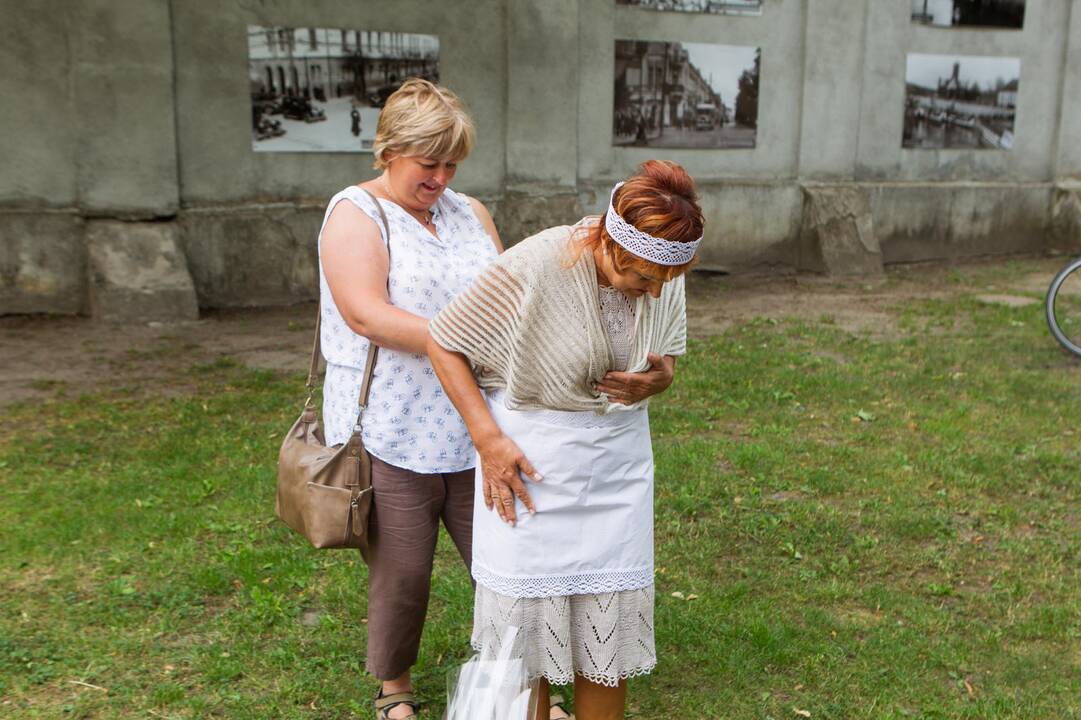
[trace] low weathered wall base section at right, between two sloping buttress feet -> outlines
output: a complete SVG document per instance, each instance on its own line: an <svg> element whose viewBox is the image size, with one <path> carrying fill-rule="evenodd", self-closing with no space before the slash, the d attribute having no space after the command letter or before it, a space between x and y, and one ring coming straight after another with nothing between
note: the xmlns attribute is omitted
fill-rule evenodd
<svg viewBox="0 0 1081 720"><path fill-rule="evenodd" d="M1050 184L868 185L884 263L913 263L1046 246Z"/></svg>

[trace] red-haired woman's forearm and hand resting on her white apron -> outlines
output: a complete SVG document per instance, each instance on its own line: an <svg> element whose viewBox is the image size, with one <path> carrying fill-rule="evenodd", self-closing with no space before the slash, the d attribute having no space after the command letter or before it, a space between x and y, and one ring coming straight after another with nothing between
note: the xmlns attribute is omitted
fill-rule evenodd
<svg viewBox="0 0 1081 720"><path fill-rule="evenodd" d="M496 425L465 356L452 352L429 338L428 358L446 396L465 421L473 445L480 454L484 505L489 510L494 505L499 517L513 526L517 521L516 495L531 515L536 511L533 499L522 482L521 474L524 472L535 482L543 480L540 474L533 468L515 441L505 436ZM496 497L498 497L497 503Z"/></svg>

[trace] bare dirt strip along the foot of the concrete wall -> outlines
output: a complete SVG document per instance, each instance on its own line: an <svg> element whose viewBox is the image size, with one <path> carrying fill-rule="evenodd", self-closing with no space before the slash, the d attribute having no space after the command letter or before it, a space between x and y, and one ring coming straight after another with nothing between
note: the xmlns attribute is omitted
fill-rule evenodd
<svg viewBox="0 0 1081 720"><path fill-rule="evenodd" d="M688 280L688 323L697 337L756 318L827 322L892 339L897 307L912 299L979 293L1042 293L1065 258L1011 258L964 265L911 265L873 279L718 276ZM1038 289L1037 289L1038 288ZM103 389L172 395L189 389L188 370L223 357L303 375L316 306L204 312L195 322L111 325L85 318L0 318L0 406ZM846 362L844 358L836 358Z"/></svg>

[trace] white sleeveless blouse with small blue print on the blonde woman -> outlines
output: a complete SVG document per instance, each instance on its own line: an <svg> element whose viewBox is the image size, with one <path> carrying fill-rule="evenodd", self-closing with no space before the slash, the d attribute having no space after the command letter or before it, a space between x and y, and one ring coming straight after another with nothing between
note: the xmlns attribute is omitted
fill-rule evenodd
<svg viewBox="0 0 1081 720"><path fill-rule="evenodd" d="M356 186L331 198L324 227L331 211L343 200L371 217L387 241L378 210ZM469 200L450 188L431 209L438 238L396 203L381 200L379 204L390 226L390 303L408 312L432 318L496 256L492 238ZM319 298L326 359L323 431L326 443L333 445L348 440L356 424L369 341L346 324L334 305L321 257ZM475 451L465 423L443 392L427 356L379 348L363 427L364 446L390 465L414 472L455 472L473 467Z"/></svg>

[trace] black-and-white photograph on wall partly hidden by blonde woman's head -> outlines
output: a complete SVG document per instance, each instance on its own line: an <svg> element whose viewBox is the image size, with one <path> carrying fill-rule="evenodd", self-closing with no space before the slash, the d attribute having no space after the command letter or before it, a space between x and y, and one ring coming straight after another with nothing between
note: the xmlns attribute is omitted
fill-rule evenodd
<svg viewBox="0 0 1081 720"><path fill-rule="evenodd" d="M390 93L439 81L439 38L250 25L248 75L253 150L371 152Z"/></svg>

